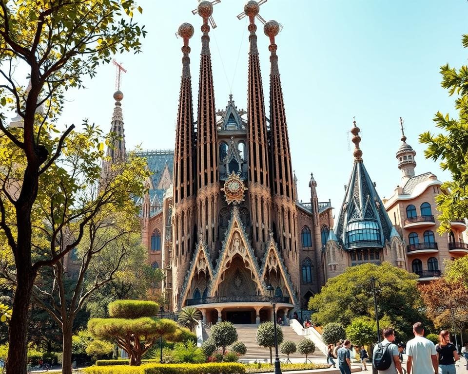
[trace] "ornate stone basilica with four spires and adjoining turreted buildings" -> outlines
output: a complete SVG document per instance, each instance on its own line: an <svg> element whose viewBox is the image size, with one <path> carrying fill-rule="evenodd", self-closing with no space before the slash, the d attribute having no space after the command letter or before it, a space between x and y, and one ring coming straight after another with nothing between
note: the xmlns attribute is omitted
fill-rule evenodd
<svg viewBox="0 0 468 374"><path fill-rule="evenodd" d="M259 48L266 50L257 45L258 3L248 1L244 12L250 43L247 110L239 110L232 95L224 110L215 110L210 55L213 5L201 1L196 114L189 46L195 31L184 23L178 29L183 45L175 148L140 152L152 172L141 200L141 238L149 262L166 275L161 285L165 308L195 306L206 323L259 323L272 318L272 300L279 317L307 309L325 282L348 266L388 261L430 280L440 276L444 258L468 253L464 221L454 223L445 242L435 243L432 228L437 219L430 209L436 210L435 187L440 193L442 183L432 173L415 176L415 152L406 137L397 153L404 187L398 186L389 200L380 199L364 166L354 122L353 166L343 202L336 206L336 222L331 201L319 201L312 174L310 201L298 201L276 54L280 26L271 20L263 27L270 41L268 112L258 56ZM125 157L121 93L114 98L112 131L121 137L108 150L109 162ZM434 194L428 195L428 188ZM408 204L411 199L417 204ZM412 208L406 218L407 205ZM393 220L388 211L394 212ZM429 242L419 245L414 233ZM267 287L273 288L274 299Z"/></svg>

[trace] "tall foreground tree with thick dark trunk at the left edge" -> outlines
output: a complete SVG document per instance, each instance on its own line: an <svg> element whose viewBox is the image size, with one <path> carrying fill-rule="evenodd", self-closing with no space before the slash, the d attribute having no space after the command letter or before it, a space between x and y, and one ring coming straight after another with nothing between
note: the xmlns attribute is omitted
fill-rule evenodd
<svg viewBox="0 0 468 374"><path fill-rule="evenodd" d="M83 75L94 76L98 65L109 62L116 52L140 51L139 37L145 31L132 19L135 8L134 0L0 1L4 81L0 87L0 131L14 153L25 160L13 184L12 175L5 173L7 164L2 164L0 172L2 186L7 186L1 190L0 227L21 279L15 289L9 324L8 374L26 373L28 310L39 268L54 265L71 250L56 250L52 258L38 262L32 255L38 193L52 181L50 177L58 177L59 169L53 165L74 128L72 125L57 136L54 124L63 108L64 92L81 86ZM122 17L122 13L128 16ZM21 69L15 69L19 64L30 76L29 90L17 83L19 75L24 75L18 72ZM39 107L44 110L38 111ZM6 128L6 114L11 110L17 110L23 119L19 131ZM67 178L60 183L70 187ZM68 372L65 368L64 373Z"/></svg>

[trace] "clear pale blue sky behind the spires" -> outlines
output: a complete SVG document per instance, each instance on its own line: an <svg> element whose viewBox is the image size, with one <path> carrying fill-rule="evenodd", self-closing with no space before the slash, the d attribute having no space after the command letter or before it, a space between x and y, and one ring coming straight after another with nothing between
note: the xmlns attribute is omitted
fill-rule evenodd
<svg viewBox="0 0 468 374"><path fill-rule="evenodd" d="M181 74L182 22L195 27L190 40L194 103L197 102L201 18L192 15L195 0L141 0L146 25L143 53L117 56L127 69L121 82L127 148L173 149ZM244 1L215 5L218 25L212 30L211 52L216 108L224 108L231 90L240 108L247 104L248 32L238 20ZM440 87L439 66L467 63L461 35L468 33L465 0L269 0L261 6L265 19L283 25L276 38L286 105L292 165L299 179L299 198L310 199L310 173L319 200L339 208L352 168L347 131L356 116L362 130L361 149L370 177L381 197L400 183L395 152L400 145L399 117L408 143L416 150L416 173L449 178L424 159L417 137L435 131L435 112L450 112L454 98ZM258 48L269 108L268 39L258 24ZM67 92L62 122L88 118L107 131L114 107L115 68L99 68L86 90ZM194 107L196 116L196 107ZM336 213L336 212L335 212Z"/></svg>

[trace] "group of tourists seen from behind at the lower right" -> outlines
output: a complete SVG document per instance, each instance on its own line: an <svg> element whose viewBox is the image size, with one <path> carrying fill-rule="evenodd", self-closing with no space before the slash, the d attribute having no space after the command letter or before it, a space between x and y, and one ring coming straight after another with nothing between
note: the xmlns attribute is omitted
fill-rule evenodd
<svg viewBox="0 0 468 374"><path fill-rule="evenodd" d="M457 348L450 342L450 333L442 330L439 342L434 345L424 337L424 326L421 322L413 325L414 338L406 344L408 356L406 367L403 363L403 344L395 344L395 332L392 328L383 330L384 339L376 344L372 353L372 365L378 374L456 374L455 362L460 359ZM351 374L351 341L340 340L336 345L329 344L327 362L336 367L335 359L341 374ZM468 370L468 343L462 348ZM364 371L367 371L369 355L364 346L360 347L359 356Z"/></svg>

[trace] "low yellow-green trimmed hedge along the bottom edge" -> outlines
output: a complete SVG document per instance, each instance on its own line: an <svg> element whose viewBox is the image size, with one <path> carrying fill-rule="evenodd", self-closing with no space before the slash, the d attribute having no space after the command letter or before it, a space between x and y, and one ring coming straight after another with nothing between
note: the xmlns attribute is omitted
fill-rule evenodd
<svg viewBox="0 0 468 374"><path fill-rule="evenodd" d="M90 366L85 374L245 374L246 366L237 363L144 364L141 366Z"/></svg>

